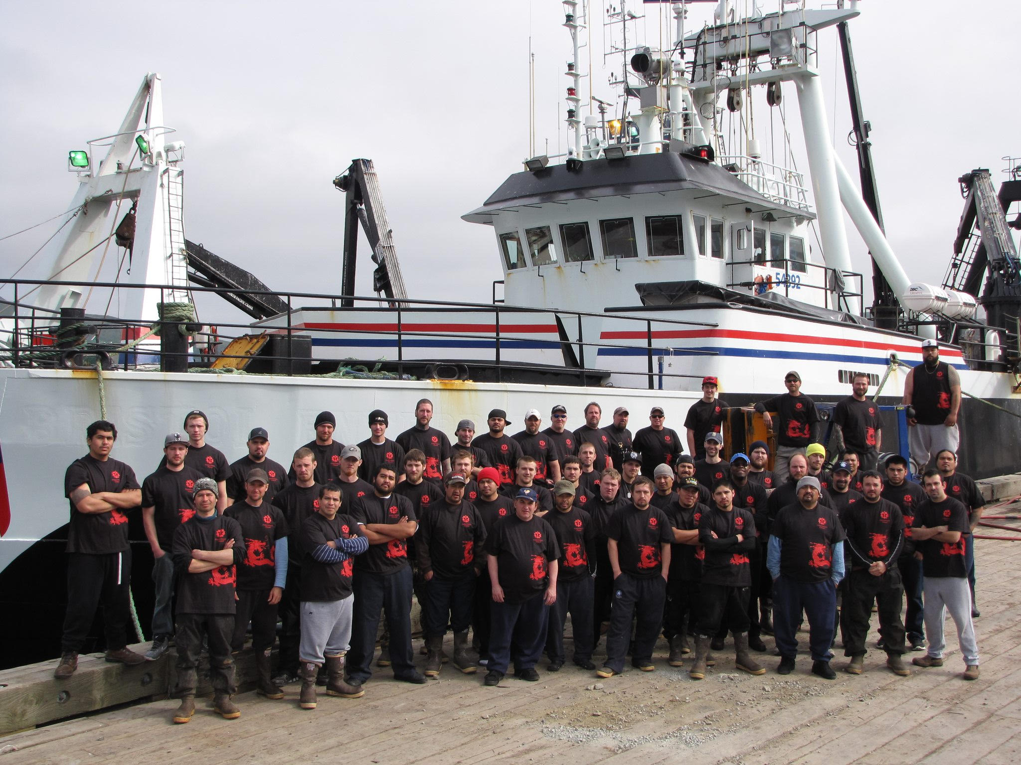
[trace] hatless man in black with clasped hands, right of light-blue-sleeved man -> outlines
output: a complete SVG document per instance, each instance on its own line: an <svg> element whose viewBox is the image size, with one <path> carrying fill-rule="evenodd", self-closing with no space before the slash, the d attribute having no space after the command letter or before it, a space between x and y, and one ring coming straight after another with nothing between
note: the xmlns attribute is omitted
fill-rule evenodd
<svg viewBox="0 0 1021 765"><path fill-rule="evenodd" d="M850 657L850 662L844 671L862 673L865 641L875 603L886 666L893 674L907 676L911 671L901 658L905 651L904 622L901 620L904 586L896 565L904 545L904 518L896 505L880 496L882 486L879 473L866 470L862 474L864 496L840 514L840 525L847 534L844 541L847 574L842 584L840 629L843 655Z"/></svg>

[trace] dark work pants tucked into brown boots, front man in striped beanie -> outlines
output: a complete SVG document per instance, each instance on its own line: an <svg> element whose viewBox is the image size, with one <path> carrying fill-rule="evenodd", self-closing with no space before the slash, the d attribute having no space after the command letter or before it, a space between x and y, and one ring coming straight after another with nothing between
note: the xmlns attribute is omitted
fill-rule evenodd
<svg viewBox="0 0 1021 765"><path fill-rule="evenodd" d="M234 614L178 614L176 636L178 649L178 684L176 697L195 696L198 685L198 659L202 654L202 635L209 642L209 674L212 690L217 694L235 694L234 657L231 638L234 634Z"/></svg>

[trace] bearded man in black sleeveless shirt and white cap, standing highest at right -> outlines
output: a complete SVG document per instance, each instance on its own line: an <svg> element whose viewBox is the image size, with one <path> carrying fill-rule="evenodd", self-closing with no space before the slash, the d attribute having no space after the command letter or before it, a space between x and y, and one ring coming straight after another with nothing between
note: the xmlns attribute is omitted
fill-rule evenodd
<svg viewBox="0 0 1021 765"><path fill-rule="evenodd" d="M957 454L961 441L957 424L961 377L957 369L939 360L936 341L922 341L922 363L905 377L902 403L911 407L908 440L919 470L924 470L930 457L941 449Z"/></svg>

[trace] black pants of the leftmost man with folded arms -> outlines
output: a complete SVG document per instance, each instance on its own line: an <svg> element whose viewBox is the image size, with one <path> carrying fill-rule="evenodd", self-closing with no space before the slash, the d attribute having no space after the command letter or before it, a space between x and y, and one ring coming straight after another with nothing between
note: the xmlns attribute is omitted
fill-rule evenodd
<svg viewBox="0 0 1021 765"><path fill-rule="evenodd" d="M123 553L67 554L67 611L64 615L62 653L81 653L89 636L96 609L103 607L106 650L128 645L126 630L131 618L131 548Z"/></svg>

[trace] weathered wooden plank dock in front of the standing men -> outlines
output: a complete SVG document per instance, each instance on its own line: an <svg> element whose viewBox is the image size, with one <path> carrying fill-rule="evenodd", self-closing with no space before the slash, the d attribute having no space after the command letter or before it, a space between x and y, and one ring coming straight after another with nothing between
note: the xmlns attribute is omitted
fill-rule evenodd
<svg viewBox="0 0 1021 765"><path fill-rule="evenodd" d="M1007 508L1002 506L996 512ZM1021 509L1015 504L1010 511ZM1004 521L998 521L1004 523ZM1003 530L983 529L1010 536ZM1014 534L1016 536L1016 534ZM896 677L875 649L860 676L835 681L808 673L807 655L781 677L767 654L767 674L735 671L728 651L704 680L666 663L600 680L570 663L530 683L507 677L484 687L482 675L444 665L427 685L396 682L386 672L359 700L321 695L319 708L242 694L239 720L197 702L187 725L174 725L178 702L153 701L0 738L3 765L14 763L225 763L344 761L359 763L596 762L1016 763L1021 761L1021 544L979 540L976 621L982 676L962 680L957 642L943 667ZM873 619L875 626L875 619ZM953 623L947 619L949 633ZM804 635L807 639L807 635ZM870 646L875 633L870 632ZM449 641L449 636L448 636ZM803 641L803 647L805 643ZM772 649L772 640L767 639ZM416 642L418 647L418 642ZM449 646L448 646L449 650ZM844 659L837 649L834 666ZM570 655L570 654L569 654ZM920 656L921 654L909 654ZM598 655L596 661L598 661Z"/></svg>

